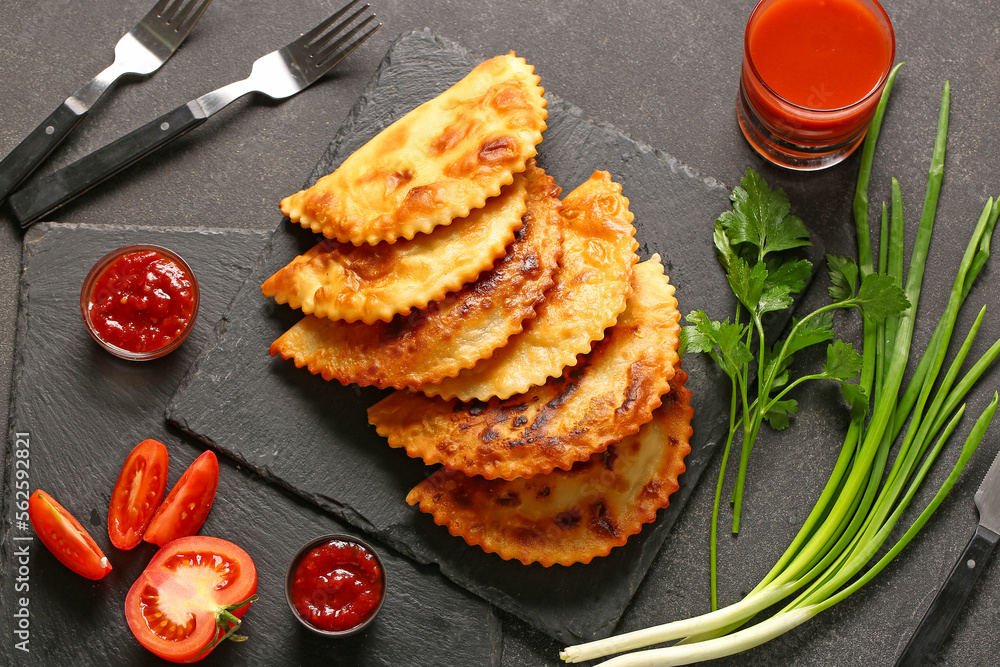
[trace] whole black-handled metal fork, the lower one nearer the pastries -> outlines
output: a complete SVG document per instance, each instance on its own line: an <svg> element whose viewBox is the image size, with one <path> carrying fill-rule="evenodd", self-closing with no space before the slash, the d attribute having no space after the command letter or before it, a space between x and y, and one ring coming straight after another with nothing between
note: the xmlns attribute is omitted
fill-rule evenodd
<svg viewBox="0 0 1000 667"><path fill-rule="evenodd" d="M371 14L336 41L333 38L364 14L364 5L340 20L359 0L288 46L258 58L250 76L179 106L156 120L98 149L90 155L32 182L10 197L10 206L22 227L48 215L98 183L117 174L156 149L201 125L230 102L252 92L284 99L305 89L329 72L351 51L371 37L382 24L355 36L374 18ZM353 39L353 41L351 41Z"/></svg>

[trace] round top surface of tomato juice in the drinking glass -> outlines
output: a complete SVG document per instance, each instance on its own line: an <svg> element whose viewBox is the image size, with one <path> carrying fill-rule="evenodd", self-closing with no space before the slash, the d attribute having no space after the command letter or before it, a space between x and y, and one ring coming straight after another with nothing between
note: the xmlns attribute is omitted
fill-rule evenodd
<svg viewBox="0 0 1000 667"><path fill-rule="evenodd" d="M892 63L891 38L859 0L779 0L748 35L760 78L785 100L840 109L871 93Z"/></svg>

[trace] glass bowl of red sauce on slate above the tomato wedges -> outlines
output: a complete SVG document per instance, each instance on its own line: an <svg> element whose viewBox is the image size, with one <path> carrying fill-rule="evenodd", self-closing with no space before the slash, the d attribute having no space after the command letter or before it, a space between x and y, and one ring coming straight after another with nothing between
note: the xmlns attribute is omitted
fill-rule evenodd
<svg viewBox="0 0 1000 667"><path fill-rule="evenodd" d="M128 245L102 257L80 290L87 331L132 361L176 350L198 317L198 281L181 257L155 245Z"/></svg>

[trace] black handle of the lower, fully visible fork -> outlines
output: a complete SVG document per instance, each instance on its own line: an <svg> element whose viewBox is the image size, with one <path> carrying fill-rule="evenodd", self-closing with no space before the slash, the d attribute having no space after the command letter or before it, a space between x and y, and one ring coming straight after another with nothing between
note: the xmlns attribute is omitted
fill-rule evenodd
<svg viewBox="0 0 1000 667"><path fill-rule="evenodd" d="M206 120L204 110L193 101L165 113L12 194L9 202L14 217L22 227L28 227Z"/></svg>

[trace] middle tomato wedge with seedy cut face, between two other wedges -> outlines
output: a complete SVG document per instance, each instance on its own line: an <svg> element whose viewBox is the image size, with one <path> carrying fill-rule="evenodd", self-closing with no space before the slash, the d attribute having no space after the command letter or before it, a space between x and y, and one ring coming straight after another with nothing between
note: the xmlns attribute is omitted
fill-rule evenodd
<svg viewBox="0 0 1000 667"><path fill-rule="evenodd" d="M119 549L142 542L153 514L167 490L167 448L158 440L143 440L125 459L111 492L108 536Z"/></svg>

